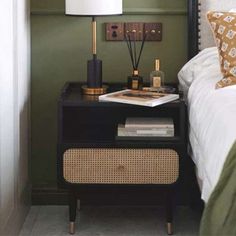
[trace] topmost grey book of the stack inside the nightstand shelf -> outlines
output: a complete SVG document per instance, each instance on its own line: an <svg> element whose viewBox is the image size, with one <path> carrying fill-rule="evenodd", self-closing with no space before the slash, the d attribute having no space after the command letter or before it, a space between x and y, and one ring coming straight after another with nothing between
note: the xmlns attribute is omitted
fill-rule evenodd
<svg viewBox="0 0 236 236"><path fill-rule="evenodd" d="M125 127L174 129L174 123L173 119L168 117L127 117Z"/></svg>

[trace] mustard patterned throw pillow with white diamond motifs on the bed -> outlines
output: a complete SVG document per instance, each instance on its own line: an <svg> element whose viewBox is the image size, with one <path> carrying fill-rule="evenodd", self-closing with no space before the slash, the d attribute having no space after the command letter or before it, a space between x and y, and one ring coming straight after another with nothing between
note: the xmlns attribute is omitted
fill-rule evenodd
<svg viewBox="0 0 236 236"><path fill-rule="evenodd" d="M216 84L222 88L236 84L236 13L208 12L208 21L215 35L224 78Z"/></svg>

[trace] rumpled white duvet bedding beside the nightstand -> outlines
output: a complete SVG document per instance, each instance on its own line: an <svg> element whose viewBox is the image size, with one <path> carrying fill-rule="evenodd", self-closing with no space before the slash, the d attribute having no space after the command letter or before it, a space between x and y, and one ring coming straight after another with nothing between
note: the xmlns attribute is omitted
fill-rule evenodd
<svg viewBox="0 0 236 236"><path fill-rule="evenodd" d="M216 48L207 49L196 57L195 66L192 59L179 73L188 103L191 156L202 182L205 202L236 140L236 86L215 89L222 78L217 57Z"/></svg>

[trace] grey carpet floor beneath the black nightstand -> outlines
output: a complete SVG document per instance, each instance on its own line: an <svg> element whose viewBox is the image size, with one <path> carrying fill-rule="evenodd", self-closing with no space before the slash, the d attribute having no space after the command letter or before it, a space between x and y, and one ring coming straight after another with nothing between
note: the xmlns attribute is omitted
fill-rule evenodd
<svg viewBox="0 0 236 236"><path fill-rule="evenodd" d="M197 236L200 213L176 207L174 235ZM66 206L32 206L20 236L68 234ZM166 236L162 207L83 207L77 214L76 236Z"/></svg>

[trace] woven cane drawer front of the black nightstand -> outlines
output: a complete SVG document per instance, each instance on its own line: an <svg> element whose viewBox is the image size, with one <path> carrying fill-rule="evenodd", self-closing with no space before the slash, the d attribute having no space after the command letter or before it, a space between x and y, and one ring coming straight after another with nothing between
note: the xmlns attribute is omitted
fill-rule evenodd
<svg viewBox="0 0 236 236"><path fill-rule="evenodd" d="M74 184L172 184L179 156L172 149L69 149L63 176Z"/></svg>

